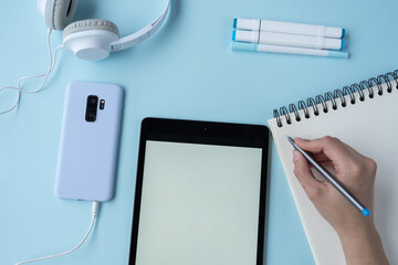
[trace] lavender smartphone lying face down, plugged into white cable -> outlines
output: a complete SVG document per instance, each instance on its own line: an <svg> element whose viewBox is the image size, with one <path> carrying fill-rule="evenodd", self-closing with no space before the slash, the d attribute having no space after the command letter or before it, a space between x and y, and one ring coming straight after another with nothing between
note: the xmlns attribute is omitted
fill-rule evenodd
<svg viewBox="0 0 398 265"><path fill-rule="evenodd" d="M113 198L122 98L117 85L69 84L55 182L59 198Z"/></svg>

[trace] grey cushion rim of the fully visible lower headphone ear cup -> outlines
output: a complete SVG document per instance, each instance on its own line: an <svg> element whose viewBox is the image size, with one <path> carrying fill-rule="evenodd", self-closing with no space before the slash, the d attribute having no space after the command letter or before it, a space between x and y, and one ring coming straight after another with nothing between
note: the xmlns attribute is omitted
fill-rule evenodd
<svg viewBox="0 0 398 265"><path fill-rule="evenodd" d="M119 35L119 31L115 23L108 20L90 19L90 20L76 21L69 24L63 31L63 38L72 33L88 31L88 30L106 30L112 33L115 33L117 36Z"/></svg>

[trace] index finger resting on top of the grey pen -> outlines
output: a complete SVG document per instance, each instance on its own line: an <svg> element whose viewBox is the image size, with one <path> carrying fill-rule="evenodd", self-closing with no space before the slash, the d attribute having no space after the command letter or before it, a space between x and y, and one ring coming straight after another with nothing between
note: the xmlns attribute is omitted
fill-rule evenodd
<svg viewBox="0 0 398 265"><path fill-rule="evenodd" d="M352 153L346 149L345 145L329 136L314 140L295 138L294 141L306 151L324 153L332 161L345 161L352 158Z"/></svg>

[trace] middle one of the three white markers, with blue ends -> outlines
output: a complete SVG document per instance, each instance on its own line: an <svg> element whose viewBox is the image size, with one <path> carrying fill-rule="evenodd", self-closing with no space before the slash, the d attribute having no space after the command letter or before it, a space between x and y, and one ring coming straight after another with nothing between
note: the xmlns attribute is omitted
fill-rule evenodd
<svg viewBox="0 0 398 265"><path fill-rule="evenodd" d="M344 40L341 39L295 35L264 31L237 30L232 32L232 41L326 50L343 50L344 47Z"/></svg>

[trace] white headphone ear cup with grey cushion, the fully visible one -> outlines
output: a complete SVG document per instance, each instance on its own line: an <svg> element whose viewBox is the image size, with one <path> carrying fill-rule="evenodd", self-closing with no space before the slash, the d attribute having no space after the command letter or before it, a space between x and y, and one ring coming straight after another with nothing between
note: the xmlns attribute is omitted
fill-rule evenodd
<svg viewBox="0 0 398 265"><path fill-rule="evenodd" d="M76 21L63 31L63 46L77 57L88 61L106 59L111 43L118 40L119 32L108 20L91 19Z"/></svg>

